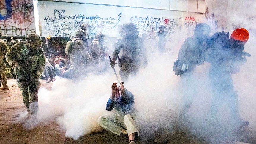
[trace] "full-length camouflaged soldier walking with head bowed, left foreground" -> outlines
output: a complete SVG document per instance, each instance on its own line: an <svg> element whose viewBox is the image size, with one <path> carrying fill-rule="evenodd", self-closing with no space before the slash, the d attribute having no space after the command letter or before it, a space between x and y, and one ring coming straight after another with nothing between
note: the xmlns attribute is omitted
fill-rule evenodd
<svg viewBox="0 0 256 144"><path fill-rule="evenodd" d="M39 35L31 33L27 36L27 41L13 45L6 53L6 60L15 69L17 84L28 112L37 112L37 93L41 85L39 77L45 67L45 56Z"/></svg>

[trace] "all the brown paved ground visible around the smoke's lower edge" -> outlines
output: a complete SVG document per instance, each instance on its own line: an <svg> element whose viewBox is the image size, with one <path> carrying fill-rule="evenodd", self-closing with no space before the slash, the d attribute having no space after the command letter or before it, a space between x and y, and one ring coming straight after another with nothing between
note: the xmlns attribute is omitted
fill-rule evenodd
<svg viewBox="0 0 256 144"><path fill-rule="evenodd" d="M41 81L41 87L51 90L51 83ZM117 136L111 132L84 135L78 140L65 136L63 129L55 120L49 119L35 124L33 128L26 126L26 107L16 80L7 80L9 90L0 91L0 144L126 144L126 136ZM208 141L197 137L187 129L174 124L172 129L159 129L151 135L140 132L138 144L207 144ZM246 132L245 129L241 130ZM240 134L241 139L256 143L255 137ZM226 144L242 144L242 142L226 142ZM245 144L245 143L244 143Z"/></svg>

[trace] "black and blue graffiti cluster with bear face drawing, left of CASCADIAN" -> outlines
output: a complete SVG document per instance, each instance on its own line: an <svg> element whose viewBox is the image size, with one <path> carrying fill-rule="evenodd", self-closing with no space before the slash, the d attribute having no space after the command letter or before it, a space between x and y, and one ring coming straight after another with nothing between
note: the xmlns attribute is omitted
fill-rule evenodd
<svg viewBox="0 0 256 144"><path fill-rule="evenodd" d="M105 34L111 33L120 22L122 12L113 17L101 17L99 15L66 15L66 10L54 10L54 12L44 17L45 24L42 26L46 30L46 35L51 36L74 36L80 29L82 23L86 23L88 33L91 37L97 32Z"/></svg>

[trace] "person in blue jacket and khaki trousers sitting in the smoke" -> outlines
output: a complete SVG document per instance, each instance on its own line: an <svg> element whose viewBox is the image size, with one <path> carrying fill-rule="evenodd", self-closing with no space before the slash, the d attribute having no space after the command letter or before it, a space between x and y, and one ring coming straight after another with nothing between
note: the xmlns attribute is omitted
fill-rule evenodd
<svg viewBox="0 0 256 144"><path fill-rule="evenodd" d="M116 108L114 117L101 116L98 123L106 130L114 134L125 134L129 138L130 144L136 144L135 138L139 137L139 131L136 128L135 121L131 113L134 111L134 95L124 88L123 82L117 87L113 83L112 93L108 99L106 109L108 111Z"/></svg>

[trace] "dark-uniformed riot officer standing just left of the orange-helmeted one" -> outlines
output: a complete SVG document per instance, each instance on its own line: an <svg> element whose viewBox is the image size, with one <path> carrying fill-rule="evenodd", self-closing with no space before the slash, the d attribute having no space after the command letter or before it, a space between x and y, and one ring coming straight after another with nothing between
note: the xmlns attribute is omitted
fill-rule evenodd
<svg viewBox="0 0 256 144"><path fill-rule="evenodd" d="M210 26L206 23L197 24L194 35L185 39L174 63L173 71L181 77L182 96L184 96L185 112L190 108L196 96L195 79L192 73L197 65L203 64L206 57L206 43L209 39Z"/></svg>

